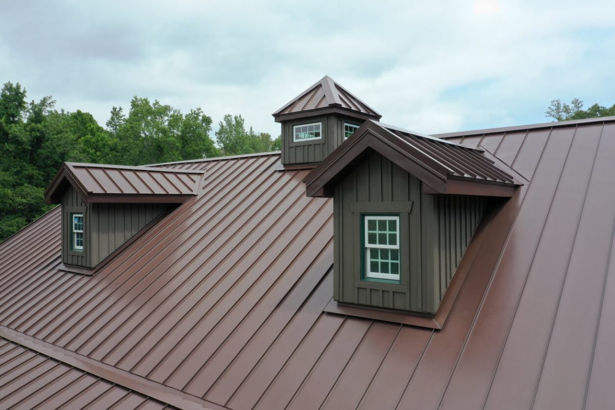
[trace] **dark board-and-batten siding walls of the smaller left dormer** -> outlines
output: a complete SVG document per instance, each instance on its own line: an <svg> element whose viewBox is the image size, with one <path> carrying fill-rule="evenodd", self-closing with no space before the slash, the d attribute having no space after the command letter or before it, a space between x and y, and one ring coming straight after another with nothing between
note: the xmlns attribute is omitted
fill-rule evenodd
<svg viewBox="0 0 615 410"><path fill-rule="evenodd" d="M95 267L167 210L169 204L85 203L69 186L62 198L62 261ZM84 250L70 249L70 214L84 213Z"/></svg>

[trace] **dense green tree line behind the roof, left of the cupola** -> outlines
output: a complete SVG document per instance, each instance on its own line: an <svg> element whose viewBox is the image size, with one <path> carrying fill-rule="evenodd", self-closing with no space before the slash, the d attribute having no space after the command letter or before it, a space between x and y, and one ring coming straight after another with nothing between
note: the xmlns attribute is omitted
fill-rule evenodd
<svg viewBox="0 0 615 410"><path fill-rule="evenodd" d="M125 112L113 107L105 126L88 112L55 108L50 97L28 102L21 84L0 91L0 242L54 205L46 186L65 161L145 165L280 149L280 137L246 128L228 114L212 138L212 118L157 100L134 97Z"/></svg>

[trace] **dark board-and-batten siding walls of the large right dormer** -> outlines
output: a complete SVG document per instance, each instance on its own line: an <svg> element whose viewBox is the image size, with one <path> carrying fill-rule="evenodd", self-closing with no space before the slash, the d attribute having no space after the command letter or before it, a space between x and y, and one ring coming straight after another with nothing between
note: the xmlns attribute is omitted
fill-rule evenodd
<svg viewBox="0 0 615 410"><path fill-rule="evenodd" d="M421 194L421 181L373 152L335 188L336 301L435 313L485 199ZM400 215L400 283L362 278L361 215Z"/></svg>

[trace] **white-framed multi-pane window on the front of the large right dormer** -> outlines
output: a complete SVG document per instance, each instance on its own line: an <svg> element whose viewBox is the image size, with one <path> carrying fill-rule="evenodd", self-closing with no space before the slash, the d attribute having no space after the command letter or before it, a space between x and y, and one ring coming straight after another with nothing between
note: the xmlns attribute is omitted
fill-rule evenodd
<svg viewBox="0 0 615 410"><path fill-rule="evenodd" d="M399 280L399 215L363 215L365 278Z"/></svg>

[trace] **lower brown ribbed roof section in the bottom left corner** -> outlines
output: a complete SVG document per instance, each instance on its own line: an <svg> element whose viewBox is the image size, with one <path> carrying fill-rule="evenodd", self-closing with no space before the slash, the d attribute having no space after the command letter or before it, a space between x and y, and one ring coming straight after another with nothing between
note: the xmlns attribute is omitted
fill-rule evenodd
<svg viewBox="0 0 615 410"><path fill-rule="evenodd" d="M174 409L0 337L2 409Z"/></svg>

